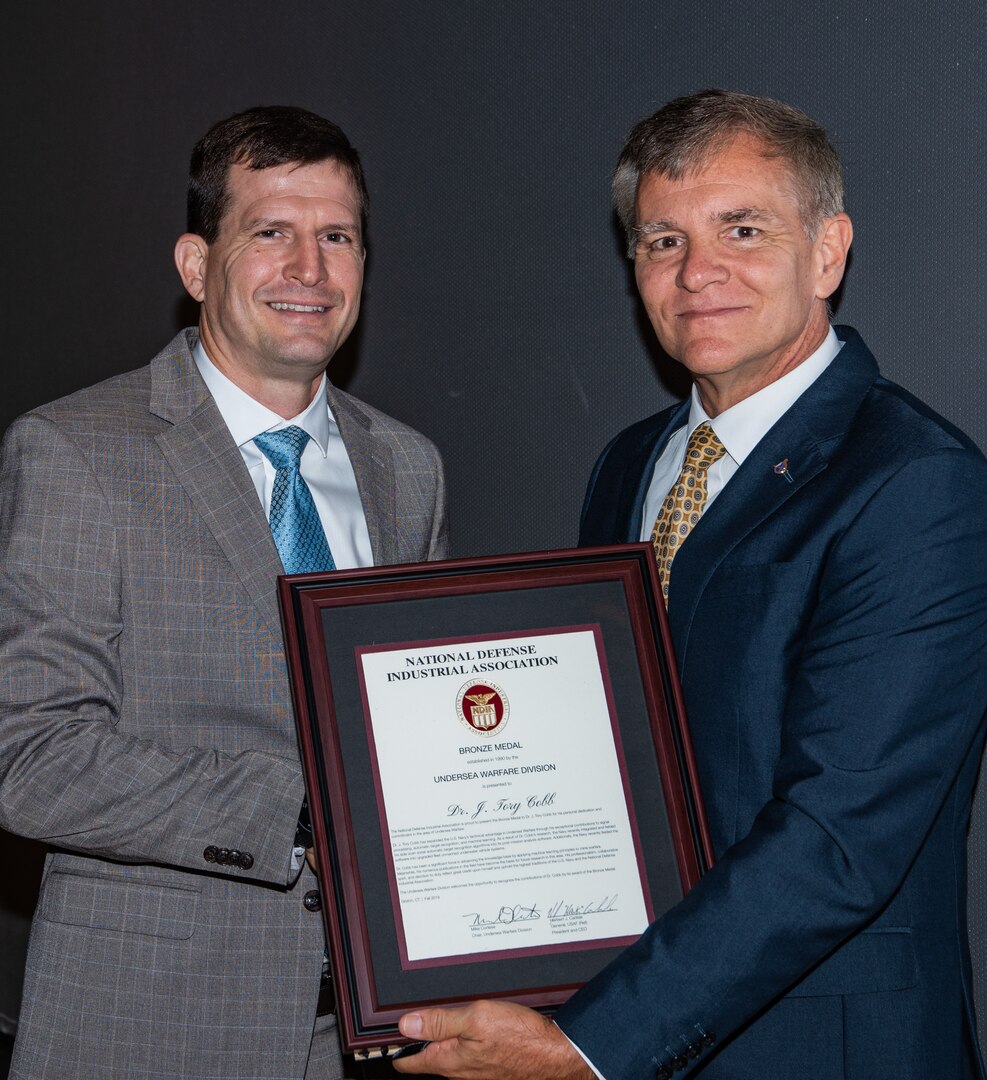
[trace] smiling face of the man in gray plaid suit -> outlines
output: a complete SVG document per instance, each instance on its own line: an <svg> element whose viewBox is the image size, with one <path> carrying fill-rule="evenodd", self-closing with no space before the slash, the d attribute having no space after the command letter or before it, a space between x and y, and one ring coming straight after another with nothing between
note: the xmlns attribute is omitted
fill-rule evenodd
<svg viewBox="0 0 987 1080"><path fill-rule="evenodd" d="M360 195L349 172L333 161L233 165L228 184L230 202L215 242L186 233L175 259L202 303L199 329L209 360L284 415L282 405L301 402L303 408L311 401L356 322L364 266Z"/></svg>

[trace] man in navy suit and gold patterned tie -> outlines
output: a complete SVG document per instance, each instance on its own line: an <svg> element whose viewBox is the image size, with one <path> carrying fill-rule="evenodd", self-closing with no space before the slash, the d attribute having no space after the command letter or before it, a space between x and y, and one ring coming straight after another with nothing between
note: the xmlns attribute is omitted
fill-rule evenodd
<svg viewBox="0 0 987 1080"><path fill-rule="evenodd" d="M614 192L693 388L606 448L580 539L654 543L717 862L554 1026L421 1010L402 1029L433 1042L398 1065L982 1078L963 897L987 463L830 326L852 229L803 113L679 98L631 133Z"/></svg>

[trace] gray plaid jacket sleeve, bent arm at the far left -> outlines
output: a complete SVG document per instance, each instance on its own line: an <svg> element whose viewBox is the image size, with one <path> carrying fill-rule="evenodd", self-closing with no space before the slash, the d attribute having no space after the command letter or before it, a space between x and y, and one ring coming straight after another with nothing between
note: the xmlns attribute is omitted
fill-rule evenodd
<svg viewBox="0 0 987 1080"><path fill-rule="evenodd" d="M153 701L141 727L121 729L125 621L137 616L122 607L118 524L57 424L12 427L0 461L0 825L195 869L211 868L207 837L254 859L217 872L287 883L297 758L195 745L194 717L187 745L138 737L154 726Z"/></svg>

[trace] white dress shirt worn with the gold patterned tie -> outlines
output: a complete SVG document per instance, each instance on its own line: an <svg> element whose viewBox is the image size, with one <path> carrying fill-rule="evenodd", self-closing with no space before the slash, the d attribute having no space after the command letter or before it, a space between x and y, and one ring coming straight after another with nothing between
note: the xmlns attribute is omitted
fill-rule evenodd
<svg viewBox="0 0 987 1080"><path fill-rule="evenodd" d="M749 397L725 409L712 420L706 416L699 391L693 383L689 420L684 428L678 428L672 433L664 450L654 462L651 484L645 496L640 539L651 539L651 531L665 496L672 490L672 485L678 480L682 470L689 436L701 423L709 424L727 450L719 460L709 465L706 473L706 504L703 508L705 511L709 509L713 500L722 491L754 447L826 370L842 347L843 342L830 326L823 343L798 367L775 379L774 382L769 382L756 394L751 394Z"/></svg>

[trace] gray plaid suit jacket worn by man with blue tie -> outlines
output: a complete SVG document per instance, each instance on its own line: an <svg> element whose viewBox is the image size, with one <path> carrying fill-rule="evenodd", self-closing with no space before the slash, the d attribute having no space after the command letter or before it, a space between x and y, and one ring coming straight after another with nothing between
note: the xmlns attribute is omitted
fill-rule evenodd
<svg viewBox="0 0 987 1080"><path fill-rule="evenodd" d="M323 956L281 563L185 330L36 409L0 461L0 826L57 850L12 1076L301 1077ZM377 563L445 554L442 463L329 403ZM207 863L208 846L249 869ZM5 873L12 869L8 867Z"/></svg>

